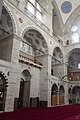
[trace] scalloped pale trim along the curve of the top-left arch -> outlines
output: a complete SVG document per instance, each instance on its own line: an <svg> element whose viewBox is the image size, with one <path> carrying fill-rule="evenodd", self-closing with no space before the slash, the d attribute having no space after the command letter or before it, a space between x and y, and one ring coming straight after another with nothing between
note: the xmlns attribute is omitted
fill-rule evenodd
<svg viewBox="0 0 80 120"><path fill-rule="evenodd" d="M16 34L17 33L17 28L16 28L16 22L15 22L15 18L11 12L11 10L9 9L9 7L6 5L5 2L3 2L3 6L5 7L5 9L7 10L8 14L10 15L10 18L12 20L12 24L13 24L13 33Z"/></svg>

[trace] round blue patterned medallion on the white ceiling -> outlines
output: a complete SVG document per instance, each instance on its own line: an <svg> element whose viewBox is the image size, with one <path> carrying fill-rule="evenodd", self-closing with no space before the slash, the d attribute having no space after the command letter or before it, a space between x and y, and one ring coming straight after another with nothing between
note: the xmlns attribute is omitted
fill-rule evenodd
<svg viewBox="0 0 80 120"><path fill-rule="evenodd" d="M65 14L68 14L72 10L72 4L69 1L65 1L61 5L61 11Z"/></svg>

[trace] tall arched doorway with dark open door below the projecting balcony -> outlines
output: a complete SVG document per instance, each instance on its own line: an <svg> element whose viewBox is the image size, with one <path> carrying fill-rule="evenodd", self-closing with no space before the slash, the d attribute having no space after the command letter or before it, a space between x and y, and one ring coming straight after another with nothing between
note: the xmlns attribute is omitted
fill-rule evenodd
<svg viewBox="0 0 80 120"><path fill-rule="evenodd" d="M20 107L30 106L30 81L31 75L28 70L22 72L22 78L20 81L19 100Z"/></svg>

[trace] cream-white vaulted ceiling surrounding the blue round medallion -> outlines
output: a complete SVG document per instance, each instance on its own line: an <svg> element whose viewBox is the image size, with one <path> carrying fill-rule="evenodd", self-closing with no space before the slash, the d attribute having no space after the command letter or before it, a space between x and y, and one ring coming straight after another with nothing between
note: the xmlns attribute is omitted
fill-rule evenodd
<svg viewBox="0 0 80 120"><path fill-rule="evenodd" d="M66 23L70 15L73 13L73 11L80 5L80 0L37 0L43 7L47 6L50 4L50 2L53 3L54 7L56 7L57 11L59 11L63 24ZM64 2L70 2L72 5L72 9L69 13L65 14L61 11L61 6ZM69 6L68 6L69 8ZM67 8L65 8L67 9Z"/></svg>

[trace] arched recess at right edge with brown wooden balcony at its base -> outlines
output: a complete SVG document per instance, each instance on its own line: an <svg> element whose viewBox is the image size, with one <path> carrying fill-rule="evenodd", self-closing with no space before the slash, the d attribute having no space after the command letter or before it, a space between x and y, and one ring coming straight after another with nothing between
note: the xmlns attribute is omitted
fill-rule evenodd
<svg viewBox="0 0 80 120"><path fill-rule="evenodd" d="M80 48L72 49L68 54L68 79L69 80L80 80L79 73L80 64Z"/></svg>

